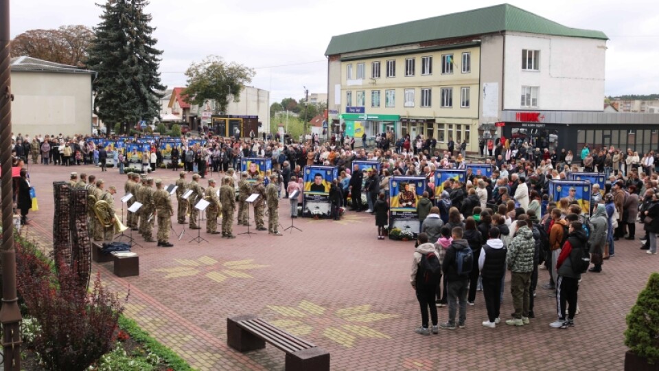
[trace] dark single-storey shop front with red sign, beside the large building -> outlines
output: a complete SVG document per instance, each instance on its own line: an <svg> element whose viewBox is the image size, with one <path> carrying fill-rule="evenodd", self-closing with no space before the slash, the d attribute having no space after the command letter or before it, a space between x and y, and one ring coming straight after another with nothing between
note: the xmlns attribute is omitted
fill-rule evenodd
<svg viewBox="0 0 659 371"><path fill-rule="evenodd" d="M638 153L659 149L659 115L603 112L504 111L498 123L511 142L560 151L614 146Z"/></svg>

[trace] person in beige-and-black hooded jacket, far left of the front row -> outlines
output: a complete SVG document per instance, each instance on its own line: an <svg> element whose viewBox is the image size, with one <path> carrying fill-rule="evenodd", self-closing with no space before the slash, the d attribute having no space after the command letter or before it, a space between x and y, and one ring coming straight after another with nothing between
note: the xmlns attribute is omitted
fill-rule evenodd
<svg viewBox="0 0 659 371"><path fill-rule="evenodd" d="M421 232L417 236L419 246L415 249L412 257L412 270L410 272L410 282L415 289L417 300L421 308L421 327L415 330L415 333L421 335L430 335L432 330L433 334L439 333L437 328L437 306L435 306L435 291L439 282L425 282L419 274L419 264L421 257L430 253L437 255L439 258L439 251L435 245L428 243L428 235ZM432 321L432 328L428 328L428 309L430 309L430 320Z"/></svg>

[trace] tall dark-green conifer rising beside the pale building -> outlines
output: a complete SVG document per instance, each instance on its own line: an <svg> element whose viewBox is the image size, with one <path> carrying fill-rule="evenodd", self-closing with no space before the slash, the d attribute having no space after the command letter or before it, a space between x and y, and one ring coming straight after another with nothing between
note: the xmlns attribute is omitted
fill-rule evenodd
<svg viewBox="0 0 659 371"><path fill-rule="evenodd" d="M163 54L154 46L152 17L144 12L146 0L107 0L101 22L94 29L95 43L87 67L97 72L94 111L107 126L151 122L159 115L158 68Z"/></svg>

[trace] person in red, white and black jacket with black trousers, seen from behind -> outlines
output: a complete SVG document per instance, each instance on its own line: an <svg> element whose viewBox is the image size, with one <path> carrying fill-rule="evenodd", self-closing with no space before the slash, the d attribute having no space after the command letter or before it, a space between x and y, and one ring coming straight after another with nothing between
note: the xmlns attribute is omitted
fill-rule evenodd
<svg viewBox="0 0 659 371"><path fill-rule="evenodd" d="M577 291L579 291L579 280L581 274L575 273L572 262L577 258L577 249L585 249L588 237L583 231L579 221L573 221L568 227L568 240L565 241L561 254L556 262L558 280L556 282L556 306L558 319L549 326L553 328L568 328L575 326L575 314L577 313ZM566 305L568 316L565 316Z"/></svg>

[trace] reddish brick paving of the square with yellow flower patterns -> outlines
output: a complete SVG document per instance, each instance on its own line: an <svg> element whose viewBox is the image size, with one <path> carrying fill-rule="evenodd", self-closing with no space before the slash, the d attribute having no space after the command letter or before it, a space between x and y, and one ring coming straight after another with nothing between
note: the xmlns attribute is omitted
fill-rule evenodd
<svg viewBox="0 0 659 371"><path fill-rule="evenodd" d="M30 165L40 210L30 212L32 226L22 233L45 249L51 249L51 183L67 180L69 171L94 174L119 190L126 179L93 166ZM152 176L171 183L178 173L157 170ZM284 227L289 209L282 200ZM476 305L467 306L465 328L422 336L413 332L420 315L408 283L413 243L377 240L374 224L369 214L349 212L342 221L297 218L303 232L281 237L259 232L226 240L202 232L209 243L199 244L188 242L196 231L187 231L181 241L170 238L170 249L134 234L143 245L133 249L139 277L117 278L111 263L94 270L113 290L130 291L126 314L198 370L284 369L283 352L272 346L245 355L227 347L226 318L246 313L325 348L332 370L621 370L625 315L659 267L659 258L638 249L638 241L616 241L616 256L603 273L583 276L574 328L548 326L556 318L555 300L538 289L529 326L484 328L478 293ZM180 232L181 225L174 229ZM241 232L246 227L234 227L234 234ZM541 270L539 286L547 280ZM506 282L502 319L512 312L508 288ZM446 321L448 308L438 310Z"/></svg>

